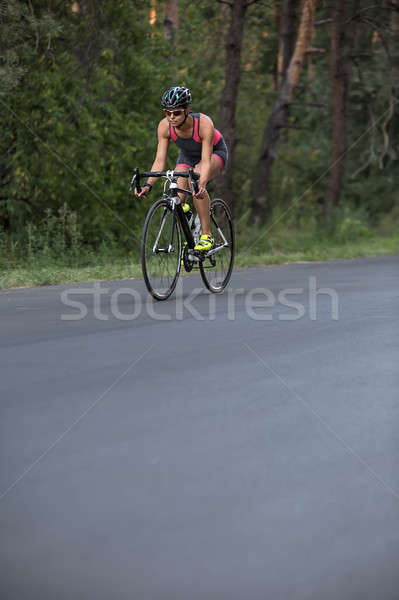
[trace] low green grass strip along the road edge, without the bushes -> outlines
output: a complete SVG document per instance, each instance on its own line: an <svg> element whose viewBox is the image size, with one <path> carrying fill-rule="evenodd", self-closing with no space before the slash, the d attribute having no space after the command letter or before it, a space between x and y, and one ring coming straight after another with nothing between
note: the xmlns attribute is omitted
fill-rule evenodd
<svg viewBox="0 0 399 600"><path fill-rule="evenodd" d="M253 267L295 263L352 259L366 256L399 254L399 234L381 235L360 232L351 236L328 237L311 231L281 230L273 234L246 229L237 236L235 266ZM96 255L90 251L75 257L52 258L51 255L31 255L23 260L0 255L0 289L57 285L89 281L141 278L139 257L118 255L115 249L104 249Z"/></svg>

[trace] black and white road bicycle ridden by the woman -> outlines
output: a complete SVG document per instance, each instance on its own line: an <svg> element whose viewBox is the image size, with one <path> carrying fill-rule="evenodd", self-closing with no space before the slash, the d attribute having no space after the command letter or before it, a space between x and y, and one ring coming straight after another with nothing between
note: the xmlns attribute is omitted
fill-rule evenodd
<svg viewBox="0 0 399 600"><path fill-rule="evenodd" d="M220 198L211 201L211 233L215 240L209 251L196 251L201 225L194 210L185 213L179 193L188 198L190 190L178 187L179 177L189 179L198 191L198 173L156 171L140 173L134 169L130 190L140 193L141 177L165 179L162 198L154 202L145 219L141 240L141 266L149 293L156 300L166 300L173 293L183 267L188 273L198 267L202 281L210 292L218 294L227 286L234 263L234 227L230 210ZM184 239L183 239L184 238Z"/></svg>

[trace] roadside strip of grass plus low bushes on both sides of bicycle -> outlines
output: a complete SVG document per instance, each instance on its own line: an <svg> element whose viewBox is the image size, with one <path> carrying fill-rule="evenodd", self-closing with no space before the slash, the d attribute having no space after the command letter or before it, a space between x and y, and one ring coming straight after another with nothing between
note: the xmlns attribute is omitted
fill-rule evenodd
<svg viewBox="0 0 399 600"><path fill-rule="evenodd" d="M237 218L236 267L399 254L399 211L378 226L346 211L326 231L309 222L287 225L282 217L254 229ZM395 219L397 219L395 221ZM240 223L241 221L241 223ZM141 278L140 232L121 248L112 238L96 247L84 241L75 213L47 213L24 236L0 239L0 289Z"/></svg>

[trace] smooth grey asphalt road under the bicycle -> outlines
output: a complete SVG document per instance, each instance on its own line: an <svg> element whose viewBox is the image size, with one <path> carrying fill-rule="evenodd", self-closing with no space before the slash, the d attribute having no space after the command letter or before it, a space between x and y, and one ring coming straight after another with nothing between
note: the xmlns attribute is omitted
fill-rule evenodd
<svg viewBox="0 0 399 600"><path fill-rule="evenodd" d="M1 599L397 600L398 275L1 292Z"/></svg>

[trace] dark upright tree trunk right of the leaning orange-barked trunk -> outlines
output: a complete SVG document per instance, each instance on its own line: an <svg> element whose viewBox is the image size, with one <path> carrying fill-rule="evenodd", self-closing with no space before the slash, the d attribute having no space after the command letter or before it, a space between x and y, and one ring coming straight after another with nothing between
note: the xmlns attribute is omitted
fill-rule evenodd
<svg viewBox="0 0 399 600"><path fill-rule="evenodd" d="M349 30L350 48L346 53L345 42L348 34L346 4L347 0L336 0L331 12L330 65L333 132L331 141L332 166L324 198L325 219L330 216L332 208L339 204L345 174L349 86L357 29L357 21L353 20ZM356 13L358 4L359 0L354 0L352 14Z"/></svg>

